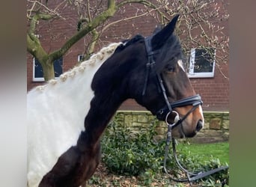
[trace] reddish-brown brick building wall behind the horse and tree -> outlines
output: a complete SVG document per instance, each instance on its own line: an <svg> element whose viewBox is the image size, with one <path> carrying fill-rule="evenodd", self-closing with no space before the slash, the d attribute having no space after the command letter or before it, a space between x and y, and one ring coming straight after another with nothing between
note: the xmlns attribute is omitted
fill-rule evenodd
<svg viewBox="0 0 256 187"><path fill-rule="evenodd" d="M52 3L54 1L51 1ZM138 8L139 8L138 4ZM125 15L131 15L135 11L134 8L129 5L126 7ZM65 13L69 14L65 21L61 19L55 19L52 22L43 22L38 27L38 34L40 35L40 41L46 52L52 52L58 49L68 37L76 32L76 12L74 10L65 10ZM124 16L122 11L115 14L112 19L118 19ZM228 23L226 23L228 25ZM118 42L134 36L135 34L143 34L147 36L152 33L156 27L157 22L152 16L142 16L139 19L132 19L127 22L122 22L119 25L113 25L108 29L101 37L100 43L97 46L96 52L107 43ZM228 27L227 27L228 28ZM67 71L77 63L77 56L82 54L85 49L86 38L83 38L76 43L63 57L63 71ZM27 88L28 91L34 86L41 85L43 82L32 81L32 66L33 61L31 55L28 54L27 58ZM222 76L222 73L228 76L228 64L219 64L215 68L214 78L207 79L190 79L195 92L201 94L204 101L204 111L228 111L229 109L229 82ZM145 110L145 108L138 105L134 100L128 99L121 105L121 110Z"/></svg>

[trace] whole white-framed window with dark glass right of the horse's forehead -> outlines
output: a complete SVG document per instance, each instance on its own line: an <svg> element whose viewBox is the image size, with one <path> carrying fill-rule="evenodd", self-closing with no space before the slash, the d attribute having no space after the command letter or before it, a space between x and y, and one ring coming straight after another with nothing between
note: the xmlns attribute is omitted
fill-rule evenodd
<svg viewBox="0 0 256 187"><path fill-rule="evenodd" d="M215 53L213 48L192 49L189 55L189 78L204 78L214 76Z"/></svg>

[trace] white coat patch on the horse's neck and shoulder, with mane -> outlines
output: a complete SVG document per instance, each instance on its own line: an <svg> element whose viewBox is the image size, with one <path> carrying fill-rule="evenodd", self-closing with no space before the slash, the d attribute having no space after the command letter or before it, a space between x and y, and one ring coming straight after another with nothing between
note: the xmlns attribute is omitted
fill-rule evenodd
<svg viewBox="0 0 256 187"><path fill-rule="evenodd" d="M28 92L28 186L38 186L59 156L76 145L94 92L94 74L121 43L112 43L88 61Z"/></svg>

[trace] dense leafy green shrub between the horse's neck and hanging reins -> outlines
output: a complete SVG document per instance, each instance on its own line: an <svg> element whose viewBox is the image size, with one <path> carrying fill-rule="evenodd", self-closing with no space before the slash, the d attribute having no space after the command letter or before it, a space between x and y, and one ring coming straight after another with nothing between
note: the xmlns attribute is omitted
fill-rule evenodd
<svg viewBox="0 0 256 187"><path fill-rule="evenodd" d="M148 131L137 133L112 122L102 139L103 162L115 174L138 175L162 167L164 142L153 140L155 123Z"/></svg>

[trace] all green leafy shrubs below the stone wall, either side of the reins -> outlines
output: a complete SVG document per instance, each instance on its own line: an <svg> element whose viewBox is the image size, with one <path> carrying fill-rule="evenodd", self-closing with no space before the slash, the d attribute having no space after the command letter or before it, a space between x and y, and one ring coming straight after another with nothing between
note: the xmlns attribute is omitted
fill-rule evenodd
<svg viewBox="0 0 256 187"><path fill-rule="evenodd" d="M115 120L109 123L102 139L102 159L109 171L129 176L140 175L144 183L151 183L155 174L161 173L165 156L165 140L154 141L155 127L156 123L152 123L148 124L147 131L141 129L140 132L135 132L124 128ZM192 156L190 153L178 153L178 159L185 168L195 173L220 166L219 159L211 158L210 161L201 163L200 156ZM171 150L168 153L167 167L171 168L171 174L180 176ZM204 186L214 186L225 178L228 178L228 171L213 174L201 182Z"/></svg>

